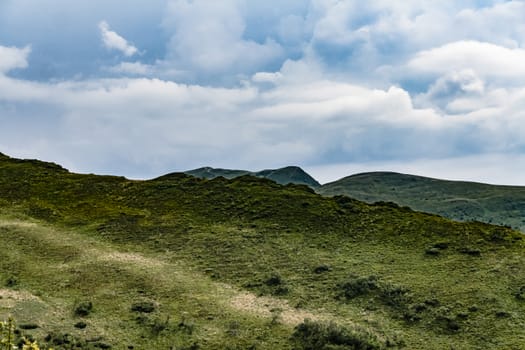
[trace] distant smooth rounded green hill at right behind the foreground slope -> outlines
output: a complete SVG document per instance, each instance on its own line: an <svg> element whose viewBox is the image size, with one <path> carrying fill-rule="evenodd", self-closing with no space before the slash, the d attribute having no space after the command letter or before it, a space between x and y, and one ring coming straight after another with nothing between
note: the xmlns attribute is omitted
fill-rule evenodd
<svg viewBox="0 0 525 350"><path fill-rule="evenodd" d="M446 181L390 172L345 177L318 189L368 203L383 201L459 221L507 225L525 232L525 187Z"/></svg>

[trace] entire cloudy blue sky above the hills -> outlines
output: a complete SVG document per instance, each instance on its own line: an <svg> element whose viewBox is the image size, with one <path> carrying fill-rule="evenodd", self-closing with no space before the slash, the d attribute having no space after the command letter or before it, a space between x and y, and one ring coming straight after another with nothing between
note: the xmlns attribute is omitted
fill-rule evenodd
<svg viewBox="0 0 525 350"><path fill-rule="evenodd" d="M0 152L525 185L525 1L0 0Z"/></svg>

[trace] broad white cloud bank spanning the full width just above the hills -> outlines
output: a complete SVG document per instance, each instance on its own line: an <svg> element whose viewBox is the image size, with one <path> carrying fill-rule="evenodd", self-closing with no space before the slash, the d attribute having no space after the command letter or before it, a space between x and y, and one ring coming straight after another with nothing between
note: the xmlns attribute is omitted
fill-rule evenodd
<svg viewBox="0 0 525 350"><path fill-rule="evenodd" d="M24 127L34 137L15 139L9 136L12 129L2 128L0 139L9 143L6 152L33 152L32 157L60 160L76 171L134 177L206 164L260 169L327 159L375 160L372 165L389 159L384 163L389 167L422 157L459 157L464 147L500 154L525 147L525 89L503 91L491 108L453 116L414 107L399 87L305 82L287 76L294 72L277 74L266 90L150 78L51 84L3 77L0 105L6 101L14 108L0 114L2 125L25 113L53 117ZM451 79L481 92L470 78Z"/></svg>

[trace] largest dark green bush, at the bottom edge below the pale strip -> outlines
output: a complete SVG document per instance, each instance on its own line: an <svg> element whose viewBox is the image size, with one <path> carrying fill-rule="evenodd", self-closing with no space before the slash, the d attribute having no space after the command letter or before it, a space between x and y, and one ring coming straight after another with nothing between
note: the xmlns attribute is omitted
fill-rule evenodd
<svg viewBox="0 0 525 350"><path fill-rule="evenodd" d="M383 349L377 337L370 332L348 329L333 322L321 323L304 320L292 335L294 349L303 350L375 350Z"/></svg>

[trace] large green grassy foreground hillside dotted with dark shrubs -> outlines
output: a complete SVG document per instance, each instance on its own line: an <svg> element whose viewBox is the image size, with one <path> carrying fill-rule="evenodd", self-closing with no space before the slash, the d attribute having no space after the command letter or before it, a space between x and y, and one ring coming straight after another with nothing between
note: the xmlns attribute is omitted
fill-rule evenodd
<svg viewBox="0 0 525 350"><path fill-rule="evenodd" d="M520 233L304 185L0 156L0 247L0 319L57 349L525 344Z"/></svg>

